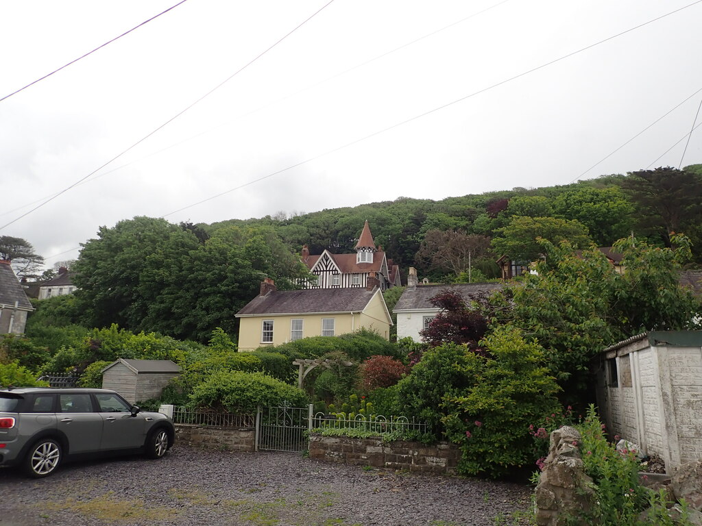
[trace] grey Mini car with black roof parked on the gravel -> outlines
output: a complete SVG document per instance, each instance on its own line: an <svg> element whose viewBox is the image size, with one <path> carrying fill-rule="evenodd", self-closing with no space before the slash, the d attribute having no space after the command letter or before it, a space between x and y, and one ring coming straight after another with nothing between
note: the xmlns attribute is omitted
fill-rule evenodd
<svg viewBox="0 0 702 526"><path fill-rule="evenodd" d="M32 477L95 454L159 459L175 436L165 414L143 412L109 389L0 390L0 466L22 466Z"/></svg>

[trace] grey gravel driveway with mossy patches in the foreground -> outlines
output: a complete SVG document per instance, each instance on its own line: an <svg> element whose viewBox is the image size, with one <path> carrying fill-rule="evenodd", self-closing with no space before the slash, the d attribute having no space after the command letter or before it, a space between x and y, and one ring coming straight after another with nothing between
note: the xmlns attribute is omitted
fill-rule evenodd
<svg viewBox="0 0 702 526"><path fill-rule="evenodd" d="M524 485L326 464L299 454L176 446L164 459L0 469L1 526L474 526L512 524Z"/></svg>

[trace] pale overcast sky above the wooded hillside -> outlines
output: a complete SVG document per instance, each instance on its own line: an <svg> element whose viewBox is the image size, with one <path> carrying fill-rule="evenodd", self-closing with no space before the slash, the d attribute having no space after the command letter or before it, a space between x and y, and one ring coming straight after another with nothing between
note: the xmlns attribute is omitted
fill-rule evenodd
<svg viewBox="0 0 702 526"><path fill-rule="evenodd" d="M177 1L0 0L0 97ZM0 225L152 133L327 2L187 0L1 101ZM508 79L693 2L333 0L0 235L27 239L51 267L135 215L211 223L567 184L702 88L702 2ZM701 98L583 178L678 166L685 140L673 144ZM702 163L702 128L684 156L692 163Z"/></svg>

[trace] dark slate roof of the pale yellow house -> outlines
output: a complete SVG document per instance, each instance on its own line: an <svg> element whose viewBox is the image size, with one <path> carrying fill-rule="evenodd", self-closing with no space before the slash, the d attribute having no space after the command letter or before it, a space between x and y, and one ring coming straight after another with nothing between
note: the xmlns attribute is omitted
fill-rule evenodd
<svg viewBox="0 0 702 526"><path fill-rule="evenodd" d="M366 308L378 289L315 288L274 290L256 296L236 316L261 314L317 314L327 312L360 312Z"/></svg>

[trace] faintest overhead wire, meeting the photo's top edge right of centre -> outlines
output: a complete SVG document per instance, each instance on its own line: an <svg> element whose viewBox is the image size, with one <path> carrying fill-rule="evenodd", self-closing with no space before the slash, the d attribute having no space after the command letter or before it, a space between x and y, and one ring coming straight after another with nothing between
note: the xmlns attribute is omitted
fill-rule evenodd
<svg viewBox="0 0 702 526"><path fill-rule="evenodd" d="M329 77L327 77L326 79L324 79L324 80L322 80L322 81L319 81L319 82L316 82L316 83L314 83L314 84L310 84L310 86L306 86L305 88L303 88L303 89L301 89L301 90L298 90L298 91L296 91L296 92L294 92L294 93L290 93L289 95L285 95L284 97L279 98L278 100L275 100L274 102L270 102L270 103L268 103L268 104L264 104L263 106L259 106L259 107L256 108L256 109L252 109L252 110L249 111L249 112L246 112L246 113L244 113L244 114L239 115L239 116L237 117L237 119L241 119L241 118L243 118L243 117L245 117L245 116L249 116L249 115L255 114L256 112L260 112L260 110L265 109L265 108L267 108L267 107L270 107L270 106L272 106L273 104L278 104L279 102L282 102L282 101L284 101L284 100L287 100L287 99L289 99L290 97L294 97L295 95L299 95L300 93L304 93L304 92L307 91L307 90L310 90L310 89L312 89L312 88L315 88L315 87L317 87L317 86L320 86L321 84L324 84L324 83L329 82L329 81L331 81L331 80L333 80L333 79L336 79L336 78L338 78L338 77L340 77L340 76L343 76L343 75L345 75L345 74L347 74L347 73L350 73L350 72L354 71L355 69L358 69L358 68L360 68L360 67L364 67L364 66L366 66L366 65L369 65L369 64L371 64L371 62L375 62L376 60L380 60L381 58L387 57L388 55L392 55L392 53L396 53L396 52L399 51L399 50L402 50L402 49L404 49L404 48L407 48L407 47L409 47L409 46L412 46L413 44L415 44L415 43L417 43L417 42L419 42L419 41L422 41L422 40L424 40L424 39L427 39L427 38L430 37L430 36L434 36L435 34L438 34L438 33L442 32L442 31L445 31L446 29L450 29L451 27L456 26L456 25L458 25L458 24L461 24L462 22L465 22L466 20L470 20L471 18L475 18L476 16L481 15L482 13L486 13L487 11L491 11L491 9L494 9L494 8L496 8L496 7L498 7L498 6L501 6L502 4L506 4L508 1L510 1L510 0L502 0L501 2L498 2L497 4L495 4L494 6L490 6L490 7L488 7L488 8L485 8L485 9L483 9L482 11L477 11L477 13L472 13L472 15L468 15L468 16L465 17L465 18L461 18L461 20L457 20L456 22L452 22L451 24L446 25L446 26L444 26L444 27L442 27L442 28L440 28L440 29L436 29L435 31L432 31L432 32L427 33L427 34L424 34L423 36L420 36L420 37L418 37L417 39L414 39L414 40L412 40L412 41L409 41L409 42L407 42L407 43L404 43L404 44L402 44L402 46L398 46L397 48L393 48L392 50L386 51L385 53L383 53L383 54L381 54L381 55L377 55L376 57L373 57L373 58L371 58L370 60L366 60L365 62L361 62L360 64L357 64L357 65L352 66L352 67L350 67L350 68L348 68L348 69L345 69L343 72L340 72L340 73L337 73L337 74L335 74L335 75L329 76ZM236 119L235 119L235 120L236 120ZM200 133L197 133L196 135L191 135L190 137L187 137L187 139L183 139L183 140L181 140L181 141L176 142L175 144L171 144L170 146L161 148L161 149L159 149L158 151L154 151L153 153L148 154L147 156L141 157L140 159L135 159L134 161L131 161L131 162L129 162L129 163L125 163L125 164L123 164L123 165L121 165L121 166L117 166L116 168L112 168L112 170L108 170L107 172L103 172L103 173L101 173L100 175L95 175L95 177L92 177L90 180L85 180L85 181L83 181L83 182L81 182L81 183L79 183L79 184L84 184L84 183L93 182L93 181L95 181L95 180L98 180L100 177L104 177L105 175L109 175L109 174L111 174L111 173L114 173L114 172L116 172L117 170L121 170L121 168L125 168L126 166L130 166L130 165L133 164L133 163L138 163L139 161L143 161L144 159L148 159L149 157L154 156L154 155L156 155L156 154L159 154L159 153L161 153L162 151L166 151L166 150L171 149L171 148L174 148L174 147L176 147L176 146L180 146L180 144L184 144L184 143L187 142L187 141L190 141L190 140L193 140L193 139L197 139L197 137L201 137L202 135L206 135L207 133L210 133L211 131L216 130L217 128L220 128L220 127L222 127L222 126L227 126L228 124L230 124L230 122L229 122L229 123L221 123L221 124L218 124L218 125L215 126L214 128L209 128L208 130L204 130L204 131L202 131L202 132L200 132ZM76 185L76 186L78 186L78 185ZM23 208L27 208L27 206L34 205L35 203L41 203L41 201L44 201L44 199L47 199L47 198L50 198L50 197L53 197L53 196L56 196L56 195L57 195L57 194L50 194L50 195L48 195L48 196L44 196L44 197L41 197L41 198L39 198L39 199L36 199L35 201L31 201L31 202L29 202L29 203L25 203L25 204L23 204L23 205L20 205L20 206L18 206L18 207L16 207L16 208L11 208L10 210L5 210L5 211L3 211L3 212L0 212L0 217L2 217L2 216L4 216L4 215L10 215L10 214L12 214L12 213L18 212L19 210L22 210Z"/></svg>

